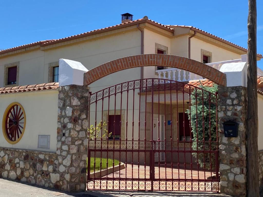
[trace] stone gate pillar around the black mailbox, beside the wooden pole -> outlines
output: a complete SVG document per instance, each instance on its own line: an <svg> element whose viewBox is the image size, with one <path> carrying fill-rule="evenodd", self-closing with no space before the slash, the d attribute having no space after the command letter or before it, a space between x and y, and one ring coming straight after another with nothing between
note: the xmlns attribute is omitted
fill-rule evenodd
<svg viewBox="0 0 263 197"><path fill-rule="evenodd" d="M245 87L218 87L220 191L228 195L246 196L246 113ZM227 138L222 123L239 123L238 137Z"/></svg>

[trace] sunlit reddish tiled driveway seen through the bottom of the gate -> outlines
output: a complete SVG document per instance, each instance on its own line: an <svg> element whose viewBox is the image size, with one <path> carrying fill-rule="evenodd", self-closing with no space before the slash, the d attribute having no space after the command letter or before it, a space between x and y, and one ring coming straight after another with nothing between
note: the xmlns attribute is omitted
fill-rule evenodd
<svg viewBox="0 0 263 197"><path fill-rule="evenodd" d="M211 176L215 175L211 171L197 171L197 170L185 170L171 167L157 167L155 166L155 181L153 182L153 190L163 191L218 191L219 183L215 180L212 181ZM96 177L100 177L97 174ZM151 190L150 180L150 167L127 164L127 168L108 174L103 178L109 178L112 180L95 180L88 182L88 189L97 190ZM119 179L127 179L119 180ZM135 181L132 179L140 179ZM145 180L147 179L147 180ZM159 181L158 179L180 179L181 181ZM199 180L202 181L184 181L187 180ZM113 181L114 180L114 181Z"/></svg>

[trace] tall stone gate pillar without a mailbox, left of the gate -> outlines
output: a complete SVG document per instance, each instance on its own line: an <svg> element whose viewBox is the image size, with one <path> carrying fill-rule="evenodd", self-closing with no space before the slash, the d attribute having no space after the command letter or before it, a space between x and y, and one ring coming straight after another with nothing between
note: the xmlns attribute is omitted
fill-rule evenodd
<svg viewBox="0 0 263 197"><path fill-rule="evenodd" d="M87 183L87 128L89 91L85 86L59 87L57 189L84 191ZM52 181L52 180L51 180Z"/></svg>

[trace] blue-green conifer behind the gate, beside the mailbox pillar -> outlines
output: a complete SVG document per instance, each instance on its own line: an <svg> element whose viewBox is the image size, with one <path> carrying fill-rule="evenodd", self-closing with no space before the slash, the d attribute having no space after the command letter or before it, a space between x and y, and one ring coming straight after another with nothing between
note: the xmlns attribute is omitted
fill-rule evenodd
<svg viewBox="0 0 263 197"><path fill-rule="evenodd" d="M191 131L193 133L192 150L213 151L217 148L215 94L218 91L218 86L209 87L200 85L199 87L201 89L194 89L191 93L191 107L186 111L191 121ZM199 167L215 169L214 153L199 152L192 153L192 156L198 162Z"/></svg>

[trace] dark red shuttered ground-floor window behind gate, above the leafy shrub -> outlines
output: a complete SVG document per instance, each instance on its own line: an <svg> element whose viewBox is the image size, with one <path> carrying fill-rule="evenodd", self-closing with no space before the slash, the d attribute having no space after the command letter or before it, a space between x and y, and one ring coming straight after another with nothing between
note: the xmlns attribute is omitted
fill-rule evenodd
<svg viewBox="0 0 263 197"><path fill-rule="evenodd" d="M115 127L114 127L115 120ZM120 115L109 115L109 133L112 133L109 139L120 139Z"/></svg>

